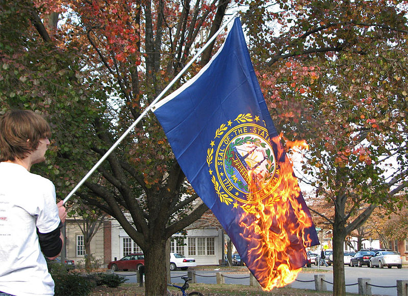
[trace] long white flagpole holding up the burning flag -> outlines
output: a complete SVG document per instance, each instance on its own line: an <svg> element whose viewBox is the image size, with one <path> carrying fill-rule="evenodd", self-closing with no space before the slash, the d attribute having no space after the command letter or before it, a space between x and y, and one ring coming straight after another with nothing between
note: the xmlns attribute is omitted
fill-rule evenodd
<svg viewBox="0 0 408 296"><path fill-rule="evenodd" d="M119 145L120 142L131 132L131 130L140 122L140 120L149 112L152 108L153 105L155 105L162 97L163 95L173 86L173 84L176 83L177 80L184 74L184 72L187 71L187 69L191 66L191 64L194 63L194 61L201 55L201 53L217 38L217 36L224 30L226 25L230 23L231 20L233 20L237 15L239 11L235 12L233 16L228 19L221 27L218 29L218 31L210 38L210 40L207 41L207 43L196 53L196 55L191 59L190 62L171 80L170 84L156 97L154 101L151 102L150 105L146 107L146 109L143 111L143 113L135 120L135 122L132 123L129 128L126 129L126 131L120 136L120 138L109 148L109 150L102 156L99 161L92 167L92 169L85 175L85 177L82 178L82 180L72 189L72 191L67 195L67 197L64 199L63 203L66 203L72 195L77 192L79 187L81 187L82 184L93 174L93 172L100 166L101 163L104 162L104 160L111 154L111 152Z"/></svg>

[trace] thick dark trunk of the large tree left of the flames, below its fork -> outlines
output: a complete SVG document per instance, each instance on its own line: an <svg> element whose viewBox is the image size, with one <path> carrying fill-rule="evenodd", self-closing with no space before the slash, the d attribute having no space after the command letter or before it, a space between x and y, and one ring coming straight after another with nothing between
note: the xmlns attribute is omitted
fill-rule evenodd
<svg viewBox="0 0 408 296"><path fill-rule="evenodd" d="M145 294L147 296L166 295L166 240L150 240L152 244L144 251Z"/></svg>

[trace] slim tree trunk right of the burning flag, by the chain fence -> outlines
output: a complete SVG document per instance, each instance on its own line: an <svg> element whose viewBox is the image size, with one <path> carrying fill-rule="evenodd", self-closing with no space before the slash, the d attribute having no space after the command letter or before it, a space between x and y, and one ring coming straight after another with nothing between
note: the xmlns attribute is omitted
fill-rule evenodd
<svg viewBox="0 0 408 296"><path fill-rule="evenodd" d="M333 225L333 295L346 294L343 245L347 232L342 221L336 214Z"/></svg>

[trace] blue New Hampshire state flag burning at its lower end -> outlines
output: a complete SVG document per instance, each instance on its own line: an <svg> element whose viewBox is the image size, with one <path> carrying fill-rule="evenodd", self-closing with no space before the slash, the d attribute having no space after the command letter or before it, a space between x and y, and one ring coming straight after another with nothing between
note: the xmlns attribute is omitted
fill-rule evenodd
<svg viewBox="0 0 408 296"><path fill-rule="evenodd" d="M196 193L264 289L319 241L250 61L240 19L201 71L152 107Z"/></svg>

